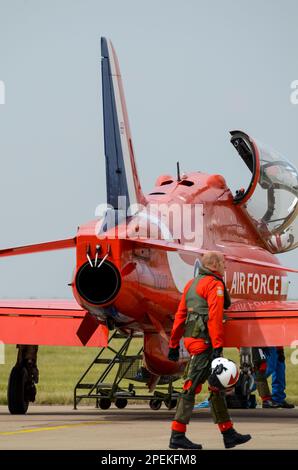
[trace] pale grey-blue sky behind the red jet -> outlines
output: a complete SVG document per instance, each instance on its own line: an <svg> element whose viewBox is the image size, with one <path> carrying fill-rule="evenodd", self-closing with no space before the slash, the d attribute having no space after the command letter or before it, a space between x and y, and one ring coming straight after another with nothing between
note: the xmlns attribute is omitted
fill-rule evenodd
<svg viewBox="0 0 298 470"><path fill-rule="evenodd" d="M295 0L0 0L0 247L75 236L105 202L101 36L145 193L178 160L245 185L232 129L298 167L297 17ZM73 250L2 258L0 298L71 298L74 267Z"/></svg>

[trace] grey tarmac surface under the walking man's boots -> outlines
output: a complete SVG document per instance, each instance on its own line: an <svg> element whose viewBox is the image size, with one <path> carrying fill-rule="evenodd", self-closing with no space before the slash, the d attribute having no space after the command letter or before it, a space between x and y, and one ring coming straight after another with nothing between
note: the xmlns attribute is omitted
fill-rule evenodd
<svg viewBox="0 0 298 470"><path fill-rule="evenodd" d="M237 449L298 449L298 408L230 410L235 429L252 440ZM119 410L71 406L30 406L26 415L10 415L0 406L0 449L157 450L168 449L174 411L128 405ZM210 411L196 410L188 437L204 449L223 449Z"/></svg>

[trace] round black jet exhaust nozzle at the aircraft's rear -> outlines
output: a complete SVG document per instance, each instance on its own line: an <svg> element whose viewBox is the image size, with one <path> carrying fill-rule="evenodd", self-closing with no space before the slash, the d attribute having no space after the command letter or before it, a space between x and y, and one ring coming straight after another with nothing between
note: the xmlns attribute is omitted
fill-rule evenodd
<svg viewBox="0 0 298 470"><path fill-rule="evenodd" d="M111 303L116 297L121 277L116 266L110 261L100 258L96 261L90 260L80 267L75 285L82 299L94 305L104 305Z"/></svg>

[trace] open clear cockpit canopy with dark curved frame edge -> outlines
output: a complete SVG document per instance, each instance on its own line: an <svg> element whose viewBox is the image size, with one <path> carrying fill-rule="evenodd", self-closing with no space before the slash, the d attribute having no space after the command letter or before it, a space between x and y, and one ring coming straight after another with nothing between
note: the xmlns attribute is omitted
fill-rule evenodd
<svg viewBox="0 0 298 470"><path fill-rule="evenodd" d="M272 253L298 246L298 172L286 158L241 131L231 132L251 174L248 187L236 191L235 204L245 207Z"/></svg>

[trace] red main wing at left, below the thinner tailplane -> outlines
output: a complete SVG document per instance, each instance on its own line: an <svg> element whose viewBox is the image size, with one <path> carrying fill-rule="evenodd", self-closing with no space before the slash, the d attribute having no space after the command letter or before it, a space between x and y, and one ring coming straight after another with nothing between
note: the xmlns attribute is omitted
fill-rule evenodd
<svg viewBox="0 0 298 470"><path fill-rule="evenodd" d="M107 346L108 329L74 300L0 300L0 342Z"/></svg>

